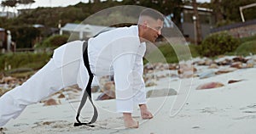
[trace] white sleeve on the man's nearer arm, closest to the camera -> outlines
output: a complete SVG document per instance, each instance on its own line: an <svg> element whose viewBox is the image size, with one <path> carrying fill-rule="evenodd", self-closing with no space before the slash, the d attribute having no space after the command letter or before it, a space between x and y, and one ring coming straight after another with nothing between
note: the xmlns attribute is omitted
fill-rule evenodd
<svg viewBox="0 0 256 134"><path fill-rule="evenodd" d="M116 89L116 109L120 113L133 111L133 75L135 54L124 53L113 61L113 76Z"/></svg>

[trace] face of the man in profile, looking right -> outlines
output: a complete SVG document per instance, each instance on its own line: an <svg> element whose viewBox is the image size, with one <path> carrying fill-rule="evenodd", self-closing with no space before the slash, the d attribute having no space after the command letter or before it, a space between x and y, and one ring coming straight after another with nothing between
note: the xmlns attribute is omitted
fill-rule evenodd
<svg viewBox="0 0 256 134"><path fill-rule="evenodd" d="M158 36L161 35L161 30L163 28L164 22L162 20L151 20L148 21L146 34L144 38L149 42L155 42Z"/></svg>

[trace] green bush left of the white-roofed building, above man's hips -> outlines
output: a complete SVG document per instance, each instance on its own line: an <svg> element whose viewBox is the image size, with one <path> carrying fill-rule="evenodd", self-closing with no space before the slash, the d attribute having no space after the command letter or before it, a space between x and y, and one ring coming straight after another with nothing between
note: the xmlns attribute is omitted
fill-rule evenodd
<svg viewBox="0 0 256 134"><path fill-rule="evenodd" d="M45 39L41 45L38 44L36 47L54 47L55 48L67 43L67 40L68 40L68 36L66 35L49 36L49 38Z"/></svg>

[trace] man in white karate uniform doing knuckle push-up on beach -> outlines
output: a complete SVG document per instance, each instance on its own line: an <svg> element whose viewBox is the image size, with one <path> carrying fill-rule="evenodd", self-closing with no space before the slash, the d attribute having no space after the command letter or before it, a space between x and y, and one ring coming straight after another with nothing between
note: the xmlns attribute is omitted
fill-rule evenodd
<svg viewBox="0 0 256 134"><path fill-rule="evenodd" d="M153 118L146 105L143 55L145 42L155 42L160 36L163 21L162 14L146 8L140 14L138 25L90 38L84 52L81 41L68 42L55 49L48 64L0 98L0 126L19 116L27 105L38 103L63 87L78 84L85 89L91 83L90 74L114 75L116 109L123 114L125 127L138 127L138 122L131 117L133 103L139 105L143 119ZM89 67L85 68L84 64Z"/></svg>

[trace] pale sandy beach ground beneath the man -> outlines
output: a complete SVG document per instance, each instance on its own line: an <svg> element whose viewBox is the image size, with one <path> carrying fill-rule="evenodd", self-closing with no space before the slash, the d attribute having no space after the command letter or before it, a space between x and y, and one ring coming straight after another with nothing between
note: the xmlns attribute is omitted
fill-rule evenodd
<svg viewBox="0 0 256 134"><path fill-rule="evenodd" d="M241 69L210 78L191 79L161 78L155 87L147 90L171 87L178 92L176 96L148 98L148 108L154 114L152 120L142 120L137 106L134 118L139 120L138 129L125 129L122 114L115 113L115 101L96 101L99 117L96 127L74 127L75 109L78 100L60 100L61 105L43 106L43 103L28 106L20 116L9 121L3 127L6 134L25 133L110 133L110 134L254 134L256 131L256 68ZM167 80L168 79L168 80ZM230 80L243 80L228 84ZM224 87L195 90L201 84L218 81ZM182 86L181 86L182 83ZM189 92L190 90L190 92ZM187 93L189 97L186 100ZM98 93L93 94L96 98ZM178 98L182 101L177 104ZM177 104L177 107L173 103ZM178 114L175 110L183 105ZM86 104L83 111L84 120L89 120L92 109ZM1 133L1 132L0 132Z"/></svg>

